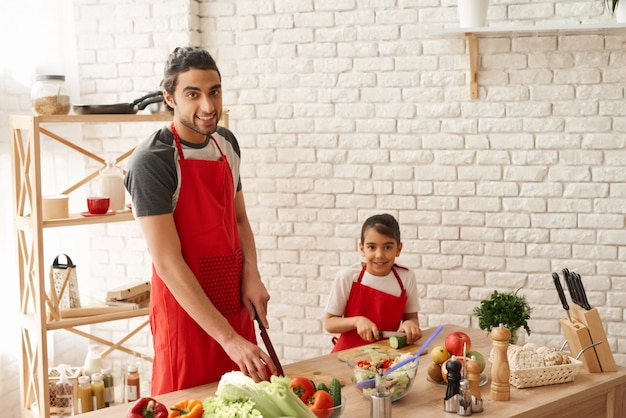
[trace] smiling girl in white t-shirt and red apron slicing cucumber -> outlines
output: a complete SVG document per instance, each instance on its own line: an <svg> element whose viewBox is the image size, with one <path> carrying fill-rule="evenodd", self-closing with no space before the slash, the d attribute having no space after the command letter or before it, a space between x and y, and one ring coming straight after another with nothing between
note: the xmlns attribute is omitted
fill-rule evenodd
<svg viewBox="0 0 626 418"><path fill-rule="evenodd" d="M382 331L405 332L407 344L422 336L415 274L395 264L402 251L400 226L389 214L368 218L359 242L365 263L338 272L326 304L324 328L340 333L333 352L380 339Z"/></svg>

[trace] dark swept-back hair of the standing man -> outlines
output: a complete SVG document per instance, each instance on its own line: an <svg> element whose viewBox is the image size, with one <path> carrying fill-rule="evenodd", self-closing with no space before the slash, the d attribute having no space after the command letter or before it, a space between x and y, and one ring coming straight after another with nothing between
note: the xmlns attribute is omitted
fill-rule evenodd
<svg viewBox="0 0 626 418"><path fill-rule="evenodd" d="M185 46L176 48L165 63L165 71L163 77L163 88L170 94L174 95L178 74L190 69L198 70L215 70L220 80L222 75L217 68L217 63L207 51L195 46Z"/></svg>

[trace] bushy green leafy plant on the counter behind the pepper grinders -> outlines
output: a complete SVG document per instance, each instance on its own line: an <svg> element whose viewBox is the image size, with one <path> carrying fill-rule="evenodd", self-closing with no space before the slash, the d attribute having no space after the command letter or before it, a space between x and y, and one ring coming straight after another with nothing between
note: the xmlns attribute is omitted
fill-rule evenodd
<svg viewBox="0 0 626 418"><path fill-rule="evenodd" d="M530 335L530 327L528 320L532 308L526 302L523 295L515 292L498 292L494 290L489 299L484 299L480 305L474 308L474 315L478 317L478 326L480 329L491 332L494 327L502 326L511 331L511 344L517 342L517 331L524 328L526 333Z"/></svg>

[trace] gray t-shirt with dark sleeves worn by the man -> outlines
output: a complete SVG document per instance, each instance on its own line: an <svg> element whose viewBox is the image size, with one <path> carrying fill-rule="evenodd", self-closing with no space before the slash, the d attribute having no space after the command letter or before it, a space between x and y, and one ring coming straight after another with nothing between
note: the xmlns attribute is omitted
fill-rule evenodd
<svg viewBox="0 0 626 418"><path fill-rule="evenodd" d="M237 138L222 126L218 126L212 136L228 159L237 192L241 190L241 151ZM209 136L202 144L192 144L182 138L180 143L185 159L217 161L220 158ZM132 198L135 217L174 212L180 191L180 166L174 136L166 126L137 146L129 159L124 185Z"/></svg>

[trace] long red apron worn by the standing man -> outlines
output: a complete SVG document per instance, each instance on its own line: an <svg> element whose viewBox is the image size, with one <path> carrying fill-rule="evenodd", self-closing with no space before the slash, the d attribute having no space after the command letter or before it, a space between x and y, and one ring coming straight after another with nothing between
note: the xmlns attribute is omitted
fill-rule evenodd
<svg viewBox="0 0 626 418"><path fill-rule="evenodd" d="M172 131L181 176L174 222L183 257L213 305L235 331L256 344L254 324L241 302L242 254L230 165L213 137L218 161L186 160L173 122ZM239 370L174 299L154 266L150 327L153 396L215 382Z"/></svg>

